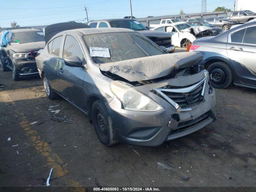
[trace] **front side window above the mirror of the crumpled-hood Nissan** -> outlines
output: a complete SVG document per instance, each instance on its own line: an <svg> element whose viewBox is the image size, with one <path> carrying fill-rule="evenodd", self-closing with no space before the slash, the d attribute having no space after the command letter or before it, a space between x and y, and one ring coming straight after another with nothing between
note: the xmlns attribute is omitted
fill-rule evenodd
<svg viewBox="0 0 256 192"><path fill-rule="evenodd" d="M70 56L78 56L85 64L85 58L77 40L74 37L67 35L64 43L63 58Z"/></svg>

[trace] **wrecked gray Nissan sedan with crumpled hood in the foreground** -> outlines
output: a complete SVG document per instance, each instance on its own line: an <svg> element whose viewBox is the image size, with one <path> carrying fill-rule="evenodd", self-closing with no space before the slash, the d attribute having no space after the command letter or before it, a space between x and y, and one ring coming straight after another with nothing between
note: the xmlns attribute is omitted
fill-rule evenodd
<svg viewBox="0 0 256 192"><path fill-rule="evenodd" d="M168 54L133 30L84 28L54 35L36 63L48 98L88 114L102 144L157 146L216 119L201 59Z"/></svg>

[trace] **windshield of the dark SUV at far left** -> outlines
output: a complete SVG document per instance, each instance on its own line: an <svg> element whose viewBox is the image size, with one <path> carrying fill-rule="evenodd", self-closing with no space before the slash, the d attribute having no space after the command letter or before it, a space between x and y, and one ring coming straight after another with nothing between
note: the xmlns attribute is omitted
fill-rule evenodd
<svg viewBox="0 0 256 192"><path fill-rule="evenodd" d="M12 32L11 41L12 43L30 43L44 41L44 34L40 31L28 31L28 32Z"/></svg>

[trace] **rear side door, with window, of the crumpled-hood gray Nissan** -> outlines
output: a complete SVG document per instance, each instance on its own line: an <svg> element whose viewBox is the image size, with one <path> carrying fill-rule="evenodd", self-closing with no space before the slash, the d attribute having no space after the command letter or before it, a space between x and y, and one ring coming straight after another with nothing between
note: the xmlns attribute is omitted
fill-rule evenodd
<svg viewBox="0 0 256 192"><path fill-rule="evenodd" d="M58 68L61 65L62 59L60 58L60 50L62 46L63 35L57 36L47 44L48 56L43 62L43 71L50 86L58 91L59 77Z"/></svg>

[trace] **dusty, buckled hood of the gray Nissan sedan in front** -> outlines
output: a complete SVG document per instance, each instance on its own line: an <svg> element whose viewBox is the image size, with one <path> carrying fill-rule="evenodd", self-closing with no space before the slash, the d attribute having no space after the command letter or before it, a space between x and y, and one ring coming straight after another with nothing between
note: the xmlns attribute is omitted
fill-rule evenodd
<svg viewBox="0 0 256 192"><path fill-rule="evenodd" d="M161 54L100 64L100 70L109 71L130 82L144 81L166 76L174 69L193 66L202 58L200 52Z"/></svg>

